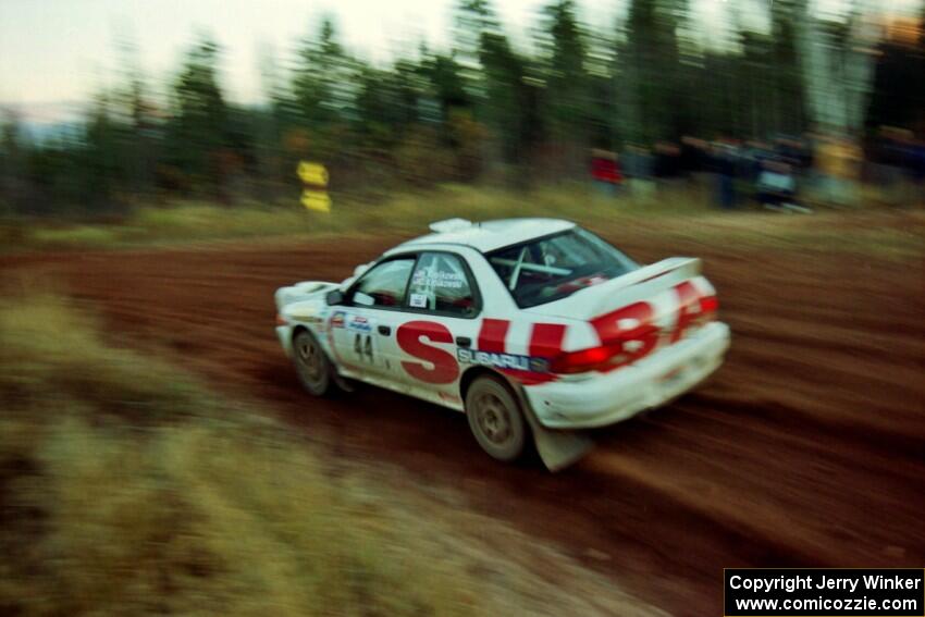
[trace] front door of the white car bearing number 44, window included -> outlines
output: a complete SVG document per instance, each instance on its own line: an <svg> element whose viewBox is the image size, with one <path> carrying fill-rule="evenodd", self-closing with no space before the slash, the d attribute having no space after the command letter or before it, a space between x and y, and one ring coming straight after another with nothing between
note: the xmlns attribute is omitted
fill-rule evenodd
<svg viewBox="0 0 925 617"><path fill-rule="evenodd" d="M390 385L394 377L388 345L405 304L415 256L381 261L367 271L345 295L329 320L331 344L342 372L363 381Z"/></svg>

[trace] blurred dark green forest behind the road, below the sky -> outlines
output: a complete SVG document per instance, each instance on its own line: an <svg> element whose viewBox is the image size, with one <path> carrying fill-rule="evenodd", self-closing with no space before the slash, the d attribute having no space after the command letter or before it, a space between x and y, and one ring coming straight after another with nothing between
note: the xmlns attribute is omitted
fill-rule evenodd
<svg viewBox="0 0 925 617"><path fill-rule="evenodd" d="M727 2L732 27L714 36L688 2L631 0L617 23L591 27L574 0L553 0L529 45L516 45L490 0L462 0L449 49L422 42L384 66L319 18L291 57L267 59L259 104L229 100L221 33L190 41L159 78L126 44L120 85L69 131L37 139L15 113L2 116L0 214L119 215L174 198L292 202L303 160L328 168L334 195L374 201L444 183L582 181L592 149L688 136L835 134L875 157L889 129L922 149L925 5L918 22L890 22L861 2L840 15L807 0ZM764 11L767 27L749 26L745 7Z"/></svg>

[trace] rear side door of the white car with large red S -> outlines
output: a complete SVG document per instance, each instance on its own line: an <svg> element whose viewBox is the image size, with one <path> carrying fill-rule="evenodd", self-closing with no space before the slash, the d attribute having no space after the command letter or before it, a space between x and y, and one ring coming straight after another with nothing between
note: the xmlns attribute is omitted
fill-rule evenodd
<svg viewBox="0 0 925 617"><path fill-rule="evenodd" d="M418 257L404 311L387 354L395 380L435 403L460 407L458 349L478 336L481 297L462 256L424 251ZM394 355L394 356L393 356Z"/></svg>

